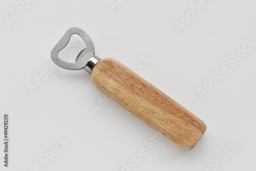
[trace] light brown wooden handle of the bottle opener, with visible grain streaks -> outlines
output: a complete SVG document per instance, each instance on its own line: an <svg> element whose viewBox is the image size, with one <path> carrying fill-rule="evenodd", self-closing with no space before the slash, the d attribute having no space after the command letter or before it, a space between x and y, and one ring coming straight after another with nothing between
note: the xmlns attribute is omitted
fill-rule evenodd
<svg viewBox="0 0 256 171"><path fill-rule="evenodd" d="M204 134L201 119L117 60L99 60L91 74L97 89L182 149Z"/></svg>

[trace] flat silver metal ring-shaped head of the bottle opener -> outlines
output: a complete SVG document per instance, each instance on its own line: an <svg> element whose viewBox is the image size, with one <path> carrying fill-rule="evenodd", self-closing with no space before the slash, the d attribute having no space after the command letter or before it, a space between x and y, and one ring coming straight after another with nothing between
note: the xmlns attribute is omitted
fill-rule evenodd
<svg viewBox="0 0 256 171"><path fill-rule="evenodd" d="M68 45L68 42L73 34L78 34L83 41L86 43L87 47L84 48L76 58L75 63L66 62L59 58L58 53L63 48ZM94 45L92 39L89 35L82 29L73 27L70 28L55 45L51 52L52 60L61 68L67 70L81 70L84 68L88 73L91 74L93 67L100 60L100 58L94 55Z"/></svg>

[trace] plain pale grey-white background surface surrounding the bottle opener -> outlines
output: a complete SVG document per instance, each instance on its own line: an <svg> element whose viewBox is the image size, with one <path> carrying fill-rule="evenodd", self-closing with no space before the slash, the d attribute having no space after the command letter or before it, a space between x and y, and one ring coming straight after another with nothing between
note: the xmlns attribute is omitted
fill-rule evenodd
<svg viewBox="0 0 256 171"><path fill-rule="evenodd" d="M246 39L256 41L256 3L206 0L178 31L175 22L200 1L114 2L112 8L109 0L37 0L9 27L6 18L22 4L1 2L0 133L8 113L9 170L254 169L256 45L234 66L227 59L242 52ZM104 95L83 70L54 68L31 93L28 83L51 66L50 52L70 27L86 31L101 58L131 69L150 58L139 75L206 123L195 148L186 152L165 138L149 145L156 132L115 102L100 101ZM197 89L222 66L229 72L201 98ZM95 105L101 105L97 114ZM62 138L69 143L58 150ZM131 155L141 148L145 155L133 164ZM122 168L127 162L132 168Z"/></svg>

